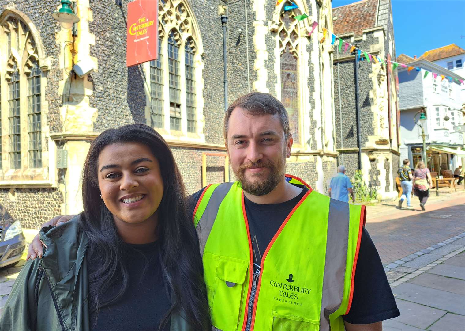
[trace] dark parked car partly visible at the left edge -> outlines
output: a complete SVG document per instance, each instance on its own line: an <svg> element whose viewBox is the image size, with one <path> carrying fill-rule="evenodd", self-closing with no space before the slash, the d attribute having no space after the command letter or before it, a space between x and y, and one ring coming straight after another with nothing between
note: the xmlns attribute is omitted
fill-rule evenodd
<svg viewBox="0 0 465 331"><path fill-rule="evenodd" d="M26 238L20 221L15 221L1 204L0 214L0 267L6 267L20 262Z"/></svg>

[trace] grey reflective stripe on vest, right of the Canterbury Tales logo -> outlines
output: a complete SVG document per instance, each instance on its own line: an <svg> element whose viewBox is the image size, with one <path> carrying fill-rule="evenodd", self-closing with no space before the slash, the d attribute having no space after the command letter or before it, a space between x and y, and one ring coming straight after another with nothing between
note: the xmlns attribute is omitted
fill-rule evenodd
<svg viewBox="0 0 465 331"><path fill-rule="evenodd" d="M348 241L349 204L330 199L320 330L331 330L329 315L337 311L342 303Z"/></svg>

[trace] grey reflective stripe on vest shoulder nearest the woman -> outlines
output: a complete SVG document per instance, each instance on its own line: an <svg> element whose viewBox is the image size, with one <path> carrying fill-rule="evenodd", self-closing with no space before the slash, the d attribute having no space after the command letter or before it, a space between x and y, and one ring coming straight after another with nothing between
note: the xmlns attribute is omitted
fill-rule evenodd
<svg viewBox="0 0 465 331"><path fill-rule="evenodd" d="M210 235L216 215L218 214L219 205L223 202L226 194L229 192L233 184L234 182L227 182L218 185L213 191L202 217L200 217L196 230L197 236L199 236L200 252L202 253L202 256L206 240Z"/></svg>

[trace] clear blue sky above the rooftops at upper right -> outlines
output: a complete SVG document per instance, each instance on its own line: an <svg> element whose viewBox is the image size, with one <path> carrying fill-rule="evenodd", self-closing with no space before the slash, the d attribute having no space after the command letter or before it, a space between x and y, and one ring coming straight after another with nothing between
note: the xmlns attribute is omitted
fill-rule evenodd
<svg viewBox="0 0 465 331"><path fill-rule="evenodd" d="M332 0L332 7L355 0ZM396 54L420 56L449 44L465 48L465 0L392 0Z"/></svg>

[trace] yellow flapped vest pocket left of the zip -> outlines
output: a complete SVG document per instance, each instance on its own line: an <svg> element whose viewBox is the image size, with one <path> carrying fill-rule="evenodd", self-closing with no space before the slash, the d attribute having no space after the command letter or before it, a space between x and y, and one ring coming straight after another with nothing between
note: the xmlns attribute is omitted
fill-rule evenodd
<svg viewBox="0 0 465 331"><path fill-rule="evenodd" d="M215 270L212 323L220 330L237 330L249 261L219 256Z"/></svg>

